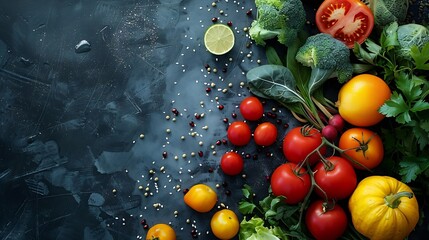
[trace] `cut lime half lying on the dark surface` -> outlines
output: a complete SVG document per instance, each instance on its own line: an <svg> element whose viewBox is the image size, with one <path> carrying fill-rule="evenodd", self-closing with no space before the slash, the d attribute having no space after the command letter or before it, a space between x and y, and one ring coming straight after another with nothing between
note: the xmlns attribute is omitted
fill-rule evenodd
<svg viewBox="0 0 429 240"><path fill-rule="evenodd" d="M204 45L215 55L223 55L234 47L235 37L231 28L225 24L211 25L204 34Z"/></svg>

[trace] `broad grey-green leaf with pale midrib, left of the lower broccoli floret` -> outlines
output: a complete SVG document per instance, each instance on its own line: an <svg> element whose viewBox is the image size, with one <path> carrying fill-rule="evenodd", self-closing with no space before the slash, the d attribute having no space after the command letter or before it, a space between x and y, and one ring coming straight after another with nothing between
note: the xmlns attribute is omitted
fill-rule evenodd
<svg viewBox="0 0 429 240"><path fill-rule="evenodd" d="M247 72L250 91L262 98L275 99L283 104L304 103L296 92L295 79L291 71L279 65L263 65Z"/></svg>

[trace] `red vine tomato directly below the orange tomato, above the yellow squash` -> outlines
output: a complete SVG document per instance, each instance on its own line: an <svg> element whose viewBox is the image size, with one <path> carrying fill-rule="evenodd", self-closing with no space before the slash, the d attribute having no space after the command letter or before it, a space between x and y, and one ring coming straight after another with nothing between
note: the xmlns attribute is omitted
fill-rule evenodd
<svg viewBox="0 0 429 240"><path fill-rule="evenodd" d="M357 184L355 169L349 161L342 157L331 156L326 160L326 163L319 162L313 169L316 184L329 199L348 198ZM319 188L315 188L315 190L320 197L325 197Z"/></svg>

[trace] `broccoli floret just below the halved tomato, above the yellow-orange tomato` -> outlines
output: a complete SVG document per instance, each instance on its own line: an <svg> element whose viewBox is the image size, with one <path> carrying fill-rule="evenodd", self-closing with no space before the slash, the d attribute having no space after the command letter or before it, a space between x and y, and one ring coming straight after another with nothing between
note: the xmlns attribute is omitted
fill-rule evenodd
<svg viewBox="0 0 429 240"><path fill-rule="evenodd" d="M296 54L296 60L311 67L310 82L322 83L336 76L340 83L348 81L353 74L350 49L329 34L319 33L307 38Z"/></svg>

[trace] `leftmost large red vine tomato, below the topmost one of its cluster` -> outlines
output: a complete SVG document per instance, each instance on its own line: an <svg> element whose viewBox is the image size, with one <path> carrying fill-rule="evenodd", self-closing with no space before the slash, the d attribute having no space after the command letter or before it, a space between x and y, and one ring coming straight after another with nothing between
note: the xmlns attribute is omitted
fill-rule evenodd
<svg viewBox="0 0 429 240"><path fill-rule="evenodd" d="M296 204L304 200L310 187L310 175L305 168L298 170L295 163L284 163L271 175L271 190L274 196L284 196L288 204Z"/></svg>

